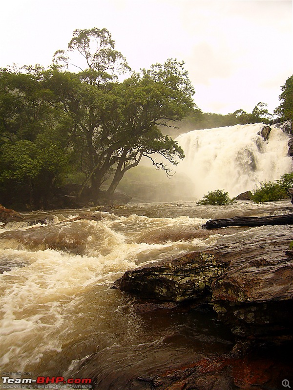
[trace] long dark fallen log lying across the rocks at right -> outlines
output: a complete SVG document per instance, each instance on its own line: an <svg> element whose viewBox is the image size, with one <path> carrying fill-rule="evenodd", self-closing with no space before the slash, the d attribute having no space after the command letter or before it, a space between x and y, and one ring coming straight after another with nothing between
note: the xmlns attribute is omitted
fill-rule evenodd
<svg viewBox="0 0 293 390"><path fill-rule="evenodd" d="M226 228L228 226L264 226L264 225L291 225L293 224L293 214L276 216L236 216L227 219L210 219L203 229Z"/></svg>

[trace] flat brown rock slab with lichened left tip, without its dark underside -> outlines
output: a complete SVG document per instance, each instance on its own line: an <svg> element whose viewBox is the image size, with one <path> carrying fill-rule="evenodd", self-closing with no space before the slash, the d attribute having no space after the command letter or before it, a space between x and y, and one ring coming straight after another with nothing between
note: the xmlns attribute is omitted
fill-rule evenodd
<svg viewBox="0 0 293 390"><path fill-rule="evenodd" d="M182 301L212 292L212 299L265 302L293 299L292 226L223 236L217 245L127 271L115 288L155 299Z"/></svg>

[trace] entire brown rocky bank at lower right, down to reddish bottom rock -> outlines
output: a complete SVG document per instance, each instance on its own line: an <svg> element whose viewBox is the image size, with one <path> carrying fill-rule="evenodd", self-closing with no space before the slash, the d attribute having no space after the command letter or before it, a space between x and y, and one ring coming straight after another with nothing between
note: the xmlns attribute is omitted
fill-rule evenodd
<svg viewBox="0 0 293 390"><path fill-rule="evenodd" d="M292 238L292 225L239 228L209 249L127 271L116 280L114 288L146 298L134 302L140 312L208 303L235 336L230 353L136 378L131 389L279 389L293 363Z"/></svg>

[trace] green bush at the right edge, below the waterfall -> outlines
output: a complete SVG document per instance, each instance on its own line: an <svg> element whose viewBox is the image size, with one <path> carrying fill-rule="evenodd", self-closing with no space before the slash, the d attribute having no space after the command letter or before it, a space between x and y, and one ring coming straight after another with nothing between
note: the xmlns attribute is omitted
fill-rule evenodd
<svg viewBox="0 0 293 390"><path fill-rule="evenodd" d="M287 191L293 187L293 172L284 174L279 180L275 182L262 181L259 187L253 191L251 199L256 202L272 202L276 200L285 199L288 197Z"/></svg>

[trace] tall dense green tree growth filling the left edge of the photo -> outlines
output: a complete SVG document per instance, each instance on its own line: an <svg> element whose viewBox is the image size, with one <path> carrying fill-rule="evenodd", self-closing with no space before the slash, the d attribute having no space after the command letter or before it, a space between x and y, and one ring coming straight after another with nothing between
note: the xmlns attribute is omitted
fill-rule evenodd
<svg viewBox="0 0 293 390"><path fill-rule="evenodd" d="M42 207L68 168L70 122L48 104L44 70L0 72L0 182L2 202L20 197ZM28 189L28 191L27 191Z"/></svg>

